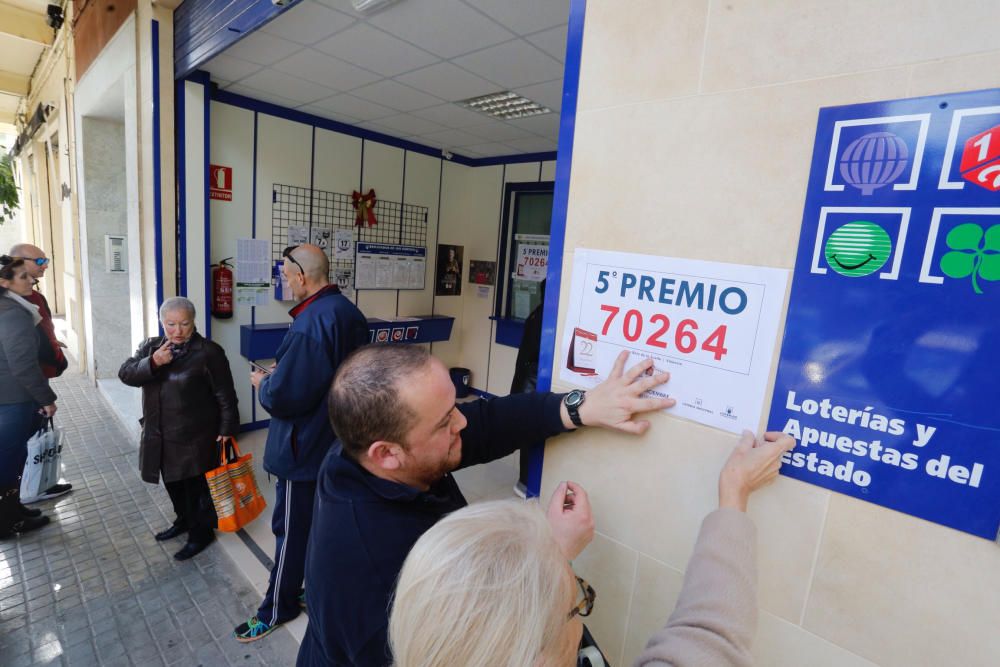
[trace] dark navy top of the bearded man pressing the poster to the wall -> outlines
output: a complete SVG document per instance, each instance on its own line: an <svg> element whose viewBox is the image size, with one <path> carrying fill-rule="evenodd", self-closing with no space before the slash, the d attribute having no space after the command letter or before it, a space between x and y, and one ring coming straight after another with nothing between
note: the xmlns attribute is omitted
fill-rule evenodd
<svg viewBox="0 0 1000 667"><path fill-rule="evenodd" d="M563 432L561 394L518 394L458 406L464 468ZM298 667L384 667L389 603L417 539L467 503L450 474L427 491L370 474L339 447L317 480L306 555L309 626Z"/></svg>

